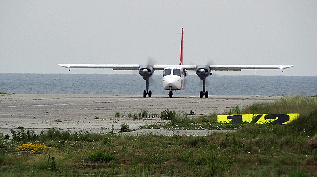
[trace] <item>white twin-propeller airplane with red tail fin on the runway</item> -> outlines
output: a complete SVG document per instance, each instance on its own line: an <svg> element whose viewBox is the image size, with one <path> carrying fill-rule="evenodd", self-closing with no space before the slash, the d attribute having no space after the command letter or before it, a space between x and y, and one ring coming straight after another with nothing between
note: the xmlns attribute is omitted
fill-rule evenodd
<svg viewBox="0 0 317 177"><path fill-rule="evenodd" d="M186 88L187 71L195 71L196 75L202 80L202 91L200 98L208 98L206 91L206 78L212 75L211 71L241 71L242 69L284 69L294 65L184 65L183 60L183 36L184 29L181 29L181 47L179 65L139 65L139 64L58 64L61 67L68 68L108 68L113 70L138 70L139 74L146 80L146 90L143 91L143 97L152 97L152 91L149 91L149 78L154 71L163 70L163 89L168 90L169 97L173 97L173 91Z"/></svg>

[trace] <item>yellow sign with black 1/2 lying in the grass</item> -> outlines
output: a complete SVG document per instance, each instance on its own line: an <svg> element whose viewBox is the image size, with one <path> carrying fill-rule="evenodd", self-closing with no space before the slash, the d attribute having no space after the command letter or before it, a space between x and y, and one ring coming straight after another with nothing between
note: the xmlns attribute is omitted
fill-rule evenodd
<svg viewBox="0 0 317 177"><path fill-rule="evenodd" d="M299 114L232 114L232 115L218 115L217 122L224 123L242 123L250 122L257 124L287 124L294 119L297 119Z"/></svg>

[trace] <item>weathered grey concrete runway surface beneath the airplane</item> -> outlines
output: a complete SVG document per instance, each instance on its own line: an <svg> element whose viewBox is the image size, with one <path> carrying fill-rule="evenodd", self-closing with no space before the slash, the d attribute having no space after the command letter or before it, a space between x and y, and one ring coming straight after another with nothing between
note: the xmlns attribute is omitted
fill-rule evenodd
<svg viewBox="0 0 317 177"><path fill-rule="evenodd" d="M209 95L207 99L200 99L198 95L173 95L173 98L168 98L168 95L153 95L152 98L143 98L142 95L0 95L0 131L10 135L10 129L17 130L22 126L25 130L34 128L37 133L49 128L109 133L113 127L114 132L119 133L123 123L130 129L137 129L141 125L166 122L160 118L133 120L128 117L128 113L139 113L143 109L158 115L166 109L179 113L192 110L197 115L209 115L214 111L223 113L236 105L243 107L280 98L241 95ZM116 112L125 117L115 118ZM142 129L124 134L208 135L214 131L217 130Z"/></svg>

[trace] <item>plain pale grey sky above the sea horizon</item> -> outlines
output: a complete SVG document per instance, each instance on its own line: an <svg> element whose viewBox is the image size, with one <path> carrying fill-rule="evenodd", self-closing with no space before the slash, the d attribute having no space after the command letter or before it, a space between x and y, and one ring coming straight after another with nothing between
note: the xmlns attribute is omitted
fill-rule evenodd
<svg viewBox="0 0 317 177"><path fill-rule="evenodd" d="M185 64L295 65L213 73L317 76L317 0L0 0L0 73L178 64L181 28Z"/></svg>

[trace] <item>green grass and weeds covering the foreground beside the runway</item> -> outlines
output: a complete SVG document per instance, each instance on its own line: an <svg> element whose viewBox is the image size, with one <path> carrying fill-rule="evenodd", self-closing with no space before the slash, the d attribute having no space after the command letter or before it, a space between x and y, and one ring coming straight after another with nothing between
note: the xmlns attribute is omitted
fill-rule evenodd
<svg viewBox="0 0 317 177"><path fill-rule="evenodd" d="M223 129L235 126L237 130L208 136L123 136L57 129L36 135L20 129L11 131L11 142L0 134L0 176L317 176L316 98L295 95L245 108L236 106L230 111L301 115L286 125L218 123ZM176 114L168 124L216 126L216 116ZM18 151L17 147L25 143L52 148L36 153Z"/></svg>

